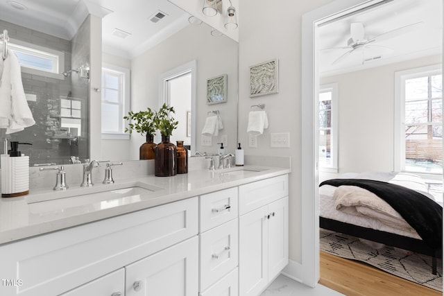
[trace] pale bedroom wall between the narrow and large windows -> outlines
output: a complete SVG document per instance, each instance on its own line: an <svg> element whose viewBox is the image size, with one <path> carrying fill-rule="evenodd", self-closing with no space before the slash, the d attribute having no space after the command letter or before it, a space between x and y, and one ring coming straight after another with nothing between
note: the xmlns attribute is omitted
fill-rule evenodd
<svg viewBox="0 0 444 296"><path fill-rule="evenodd" d="M321 85L338 83L339 173L393 171L395 71L439 62L434 55L321 78Z"/></svg>

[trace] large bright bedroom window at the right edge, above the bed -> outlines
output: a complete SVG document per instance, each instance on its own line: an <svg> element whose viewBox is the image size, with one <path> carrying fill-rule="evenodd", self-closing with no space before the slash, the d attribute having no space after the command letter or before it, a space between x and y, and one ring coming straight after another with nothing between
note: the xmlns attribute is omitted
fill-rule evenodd
<svg viewBox="0 0 444 296"><path fill-rule="evenodd" d="M441 64L395 73L395 170L443 173Z"/></svg>

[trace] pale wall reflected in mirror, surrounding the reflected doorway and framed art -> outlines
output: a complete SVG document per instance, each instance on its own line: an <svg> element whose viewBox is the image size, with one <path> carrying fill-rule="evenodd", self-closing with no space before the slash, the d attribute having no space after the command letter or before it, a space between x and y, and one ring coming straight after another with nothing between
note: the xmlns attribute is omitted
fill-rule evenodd
<svg viewBox="0 0 444 296"><path fill-rule="evenodd" d="M226 36L212 37L210 27L187 26L182 31L169 37L131 60L131 110L146 110L146 107L159 108L158 80L165 73L182 64L197 60L196 87L196 150L216 153L216 143L221 135L228 134L229 150L234 152L237 139L237 42ZM207 78L228 75L228 102L207 105ZM212 147L200 146L200 133L205 123L207 112L219 110L224 128L219 137L213 137ZM174 134L174 132L173 132ZM131 153L139 155L139 146L144 139L137 134L131 137Z"/></svg>

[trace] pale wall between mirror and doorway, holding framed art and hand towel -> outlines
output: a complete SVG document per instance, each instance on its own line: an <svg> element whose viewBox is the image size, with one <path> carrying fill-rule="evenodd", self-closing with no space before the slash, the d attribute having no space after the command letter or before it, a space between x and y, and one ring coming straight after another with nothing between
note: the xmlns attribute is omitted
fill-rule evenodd
<svg viewBox="0 0 444 296"><path fill-rule="evenodd" d="M301 245L301 17L329 0L239 1L239 140L246 155L291 156L289 175L289 256L302 263ZM249 98L248 67L279 59L279 93ZM266 104L269 127L248 148L250 105ZM290 148L270 148L271 132L290 132ZM307 264L307 262L304 262ZM314 264L314 263L308 263Z"/></svg>

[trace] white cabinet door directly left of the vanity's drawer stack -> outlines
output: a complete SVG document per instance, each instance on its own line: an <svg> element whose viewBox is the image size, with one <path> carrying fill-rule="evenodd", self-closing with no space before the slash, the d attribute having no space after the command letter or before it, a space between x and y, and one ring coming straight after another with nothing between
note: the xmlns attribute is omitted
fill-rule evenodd
<svg viewBox="0 0 444 296"><path fill-rule="evenodd" d="M126 266L125 295L198 295L198 237Z"/></svg>

